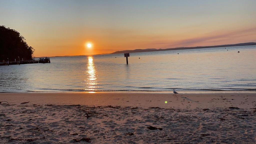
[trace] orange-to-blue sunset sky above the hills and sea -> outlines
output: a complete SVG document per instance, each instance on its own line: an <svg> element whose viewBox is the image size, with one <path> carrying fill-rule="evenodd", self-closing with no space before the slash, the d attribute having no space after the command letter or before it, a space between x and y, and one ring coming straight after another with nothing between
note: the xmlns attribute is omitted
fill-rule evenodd
<svg viewBox="0 0 256 144"><path fill-rule="evenodd" d="M255 0L0 0L0 25L24 36L36 57L90 55L256 42L255 6Z"/></svg>

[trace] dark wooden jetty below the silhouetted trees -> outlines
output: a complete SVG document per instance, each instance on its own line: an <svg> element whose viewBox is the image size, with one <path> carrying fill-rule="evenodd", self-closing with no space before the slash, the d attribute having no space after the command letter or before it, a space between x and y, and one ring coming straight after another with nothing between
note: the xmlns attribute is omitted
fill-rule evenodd
<svg viewBox="0 0 256 144"><path fill-rule="evenodd" d="M51 63L49 57L32 59L32 60L20 60L20 61L3 61L0 62L0 66L2 65L20 65L20 64L36 64L36 63Z"/></svg>

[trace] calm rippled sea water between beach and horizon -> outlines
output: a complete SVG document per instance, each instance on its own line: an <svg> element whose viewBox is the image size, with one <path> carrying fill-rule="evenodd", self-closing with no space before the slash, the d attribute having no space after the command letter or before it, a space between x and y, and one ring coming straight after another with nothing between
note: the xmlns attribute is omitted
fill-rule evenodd
<svg viewBox="0 0 256 144"><path fill-rule="evenodd" d="M72 56L0 66L0 92L256 91L256 46L130 53L128 59L126 65L124 54Z"/></svg>

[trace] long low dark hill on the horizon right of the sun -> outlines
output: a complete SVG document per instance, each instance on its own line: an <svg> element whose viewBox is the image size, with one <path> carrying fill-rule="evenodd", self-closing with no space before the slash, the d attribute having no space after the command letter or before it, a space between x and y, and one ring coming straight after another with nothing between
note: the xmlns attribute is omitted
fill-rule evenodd
<svg viewBox="0 0 256 144"><path fill-rule="evenodd" d="M147 49L122 50L122 51L117 51L111 54L156 52L156 51L165 51L165 50L197 49L197 48L212 48L212 47L248 46L248 45L256 45L256 43L251 42L251 43L240 43L240 44L232 44L232 45L177 47L177 48L167 48L167 49L147 48Z"/></svg>

